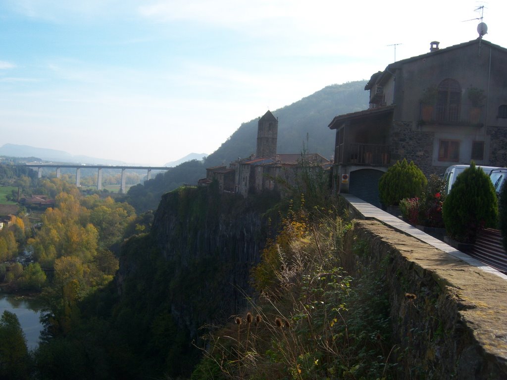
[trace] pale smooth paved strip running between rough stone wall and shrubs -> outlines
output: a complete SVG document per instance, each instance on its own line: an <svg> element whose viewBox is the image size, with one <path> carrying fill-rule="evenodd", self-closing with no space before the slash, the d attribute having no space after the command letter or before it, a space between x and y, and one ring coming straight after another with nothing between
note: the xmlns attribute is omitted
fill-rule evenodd
<svg viewBox="0 0 507 380"><path fill-rule="evenodd" d="M496 269L489 267L488 265L482 263L481 261L479 261L474 257L467 255L466 253L458 251L456 248L451 247L449 244L446 244L443 241L433 238L432 236L422 232L421 230L416 229L416 227L404 222L402 219L397 218L394 215L389 214L388 212L382 211L378 207L375 207L372 204L363 201L362 199L359 199L353 195L350 194L340 194L340 195L343 198L345 198L352 205L352 207L355 210L357 210L358 213L363 215L365 219L378 220L379 222L389 225L390 227L392 227L397 231L413 236L414 238L424 243L427 243L437 249L440 249L441 251L444 251L454 257L457 257L470 265L474 265L474 267L477 267L485 272L492 273L496 276L503 278L504 280L507 280L507 275L504 275L503 273L497 271Z"/></svg>

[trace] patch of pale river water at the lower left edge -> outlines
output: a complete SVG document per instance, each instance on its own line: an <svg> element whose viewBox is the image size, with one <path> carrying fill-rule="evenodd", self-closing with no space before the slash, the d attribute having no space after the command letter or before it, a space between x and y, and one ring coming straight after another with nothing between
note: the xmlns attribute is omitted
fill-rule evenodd
<svg viewBox="0 0 507 380"><path fill-rule="evenodd" d="M16 314L26 337L29 350L39 345L43 325L40 321L42 303L27 297L0 293L0 316L5 310Z"/></svg>

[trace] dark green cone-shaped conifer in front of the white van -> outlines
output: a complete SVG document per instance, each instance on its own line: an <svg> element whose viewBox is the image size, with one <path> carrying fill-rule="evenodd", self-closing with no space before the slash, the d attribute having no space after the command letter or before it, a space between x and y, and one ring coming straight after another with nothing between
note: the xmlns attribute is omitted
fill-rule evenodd
<svg viewBox="0 0 507 380"><path fill-rule="evenodd" d="M496 226L495 189L488 175L473 161L456 178L442 213L447 234L462 243L474 243L481 229Z"/></svg>

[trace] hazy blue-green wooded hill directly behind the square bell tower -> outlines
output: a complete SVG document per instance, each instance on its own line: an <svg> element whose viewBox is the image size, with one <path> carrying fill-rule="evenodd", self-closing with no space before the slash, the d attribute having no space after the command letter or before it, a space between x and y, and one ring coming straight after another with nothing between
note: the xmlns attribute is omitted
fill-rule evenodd
<svg viewBox="0 0 507 380"><path fill-rule="evenodd" d="M342 113L368 108L367 81L331 85L291 105L272 110L278 118L279 153L299 153L303 142L312 153L325 158L333 155L334 131L329 123ZM259 116L267 109L260 109ZM256 151L258 119L243 123L220 148L206 158L206 166L226 165L238 157L245 158Z"/></svg>

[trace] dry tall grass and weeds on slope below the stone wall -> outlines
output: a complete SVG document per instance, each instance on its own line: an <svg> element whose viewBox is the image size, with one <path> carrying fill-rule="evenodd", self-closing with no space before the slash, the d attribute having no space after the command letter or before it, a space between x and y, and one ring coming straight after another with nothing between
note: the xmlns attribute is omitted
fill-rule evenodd
<svg viewBox="0 0 507 380"><path fill-rule="evenodd" d="M323 209L291 210L253 271L259 297L206 336L192 379L393 377L382 273L352 278L340 265L349 228Z"/></svg>

